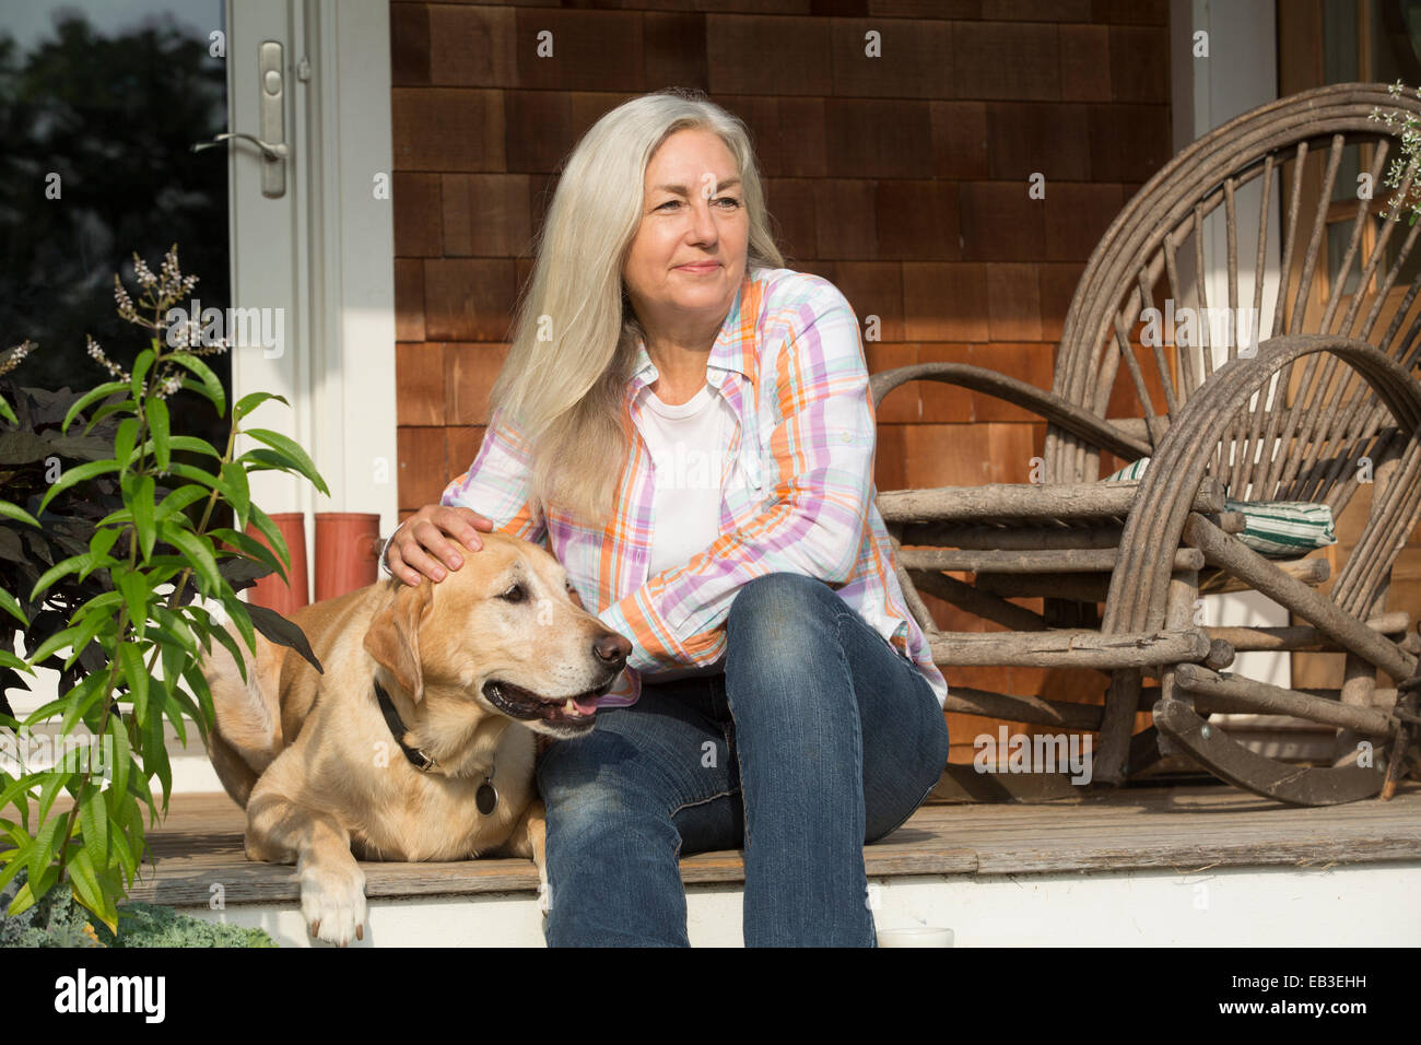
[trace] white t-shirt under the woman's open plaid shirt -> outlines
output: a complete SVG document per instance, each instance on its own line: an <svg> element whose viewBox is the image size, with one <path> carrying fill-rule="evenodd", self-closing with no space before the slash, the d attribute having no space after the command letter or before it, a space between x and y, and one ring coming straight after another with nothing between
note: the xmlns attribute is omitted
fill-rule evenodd
<svg viewBox="0 0 1421 1045"><path fill-rule="evenodd" d="M725 455L735 431L729 404L709 385L688 402L671 405L647 390L642 438L652 459L651 564L648 576L682 566L720 536L720 488ZM648 675L668 682L686 675L725 671L725 657L703 668L676 668Z"/></svg>

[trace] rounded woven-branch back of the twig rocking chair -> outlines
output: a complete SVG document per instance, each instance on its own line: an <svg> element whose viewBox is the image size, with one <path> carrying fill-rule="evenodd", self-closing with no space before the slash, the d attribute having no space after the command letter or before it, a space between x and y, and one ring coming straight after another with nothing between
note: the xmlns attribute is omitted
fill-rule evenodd
<svg viewBox="0 0 1421 1045"><path fill-rule="evenodd" d="M1421 118L1415 97L1393 98L1380 84L1331 85L1245 114L1169 161L1120 212L1091 254L1066 317L1053 391L1104 417L1113 394L1123 391L1117 385L1127 385L1124 391L1133 392L1142 414L1135 434L1155 444L1168 421L1241 345L1248 353L1248 345L1275 334L1361 338L1414 371L1421 364L1421 309L1412 309L1421 269L1410 284L1400 276L1421 222L1384 218L1397 195L1384 181L1401 149L1397 134L1371 119L1376 109ZM1360 198L1358 182L1343 173L1360 162L1370 175L1371 199ZM1405 169L1403 196L1415 173ZM1334 196L1343 195L1344 179L1353 185L1339 205ZM1241 259L1238 198L1249 186L1262 195L1258 250ZM1343 257L1329 264L1329 225L1337 223L1339 206L1350 206L1354 215L1346 223L1350 237ZM1276 220L1280 210L1282 220ZM1192 276L1204 272L1205 240L1219 233L1226 257L1223 266L1212 267L1226 270L1228 291L1225 301L1209 301L1209 280ZM1266 263L1268 243L1277 245L1280 266ZM1246 300L1239 294L1241 263L1252 283ZM1160 299L1158 289L1164 291ZM1131 338L1140 340L1145 330L1147 310L1167 314L1171 309L1164 299L1172 299L1177 316L1189 309L1198 317L1192 338L1175 340L1202 345L1165 340L1142 351L1131 348ZM1226 326L1205 318L1211 306L1226 310ZM1221 331L1223 344L1215 350ZM1357 461L1378 461L1398 438L1395 425L1356 371L1330 354L1307 357L1300 373L1289 364L1276 388L1283 395L1275 391L1266 409L1255 404L1239 412L1208 473L1239 500L1326 502L1340 515L1358 476L1366 481ZM1100 478L1098 451L1054 425L1047 431L1044 459L1056 482Z"/></svg>

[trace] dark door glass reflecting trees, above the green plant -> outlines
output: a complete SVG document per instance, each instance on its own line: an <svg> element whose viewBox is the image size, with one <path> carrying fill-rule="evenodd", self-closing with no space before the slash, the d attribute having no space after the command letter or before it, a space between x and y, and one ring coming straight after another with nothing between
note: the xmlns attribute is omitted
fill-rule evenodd
<svg viewBox="0 0 1421 1045"><path fill-rule="evenodd" d="M189 151L226 129L226 58L212 54L210 37L223 14L215 0L31 3L6 13L0 347L38 343L13 374L17 384L104 380L85 334L117 363L132 361L142 331L115 314L112 280L119 272L132 287L135 250L156 267L176 242L183 272L202 279L203 307L227 307L227 161L220 149ZM207 361L230 387L226 355ZM193 409L209 431L189 431L215 434L210 415Z"/></svg>

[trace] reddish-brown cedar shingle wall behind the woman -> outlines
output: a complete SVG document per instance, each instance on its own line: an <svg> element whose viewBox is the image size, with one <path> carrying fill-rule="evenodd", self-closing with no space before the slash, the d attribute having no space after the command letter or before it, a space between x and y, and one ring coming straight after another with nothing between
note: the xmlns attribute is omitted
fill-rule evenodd
<svg viewBox="0 0 1421 1045"><path fill-rule="evenodd" d="M603 112L674 84L745 119L786 263L880 317L871 371L955 360L1049 388L1090 252L1169 156L1167 20L1164 0L395 0L402 515L477 451L558 164ZM534 54L541 30L553 58ZM870 30L881 58L864 57ZM899 388L878 419L880 489L1023 482L1044 436L938 384ZM980 627L928 601L944 627ZM1025 668L948 681L1064 700L1104 687ZM969 761L995 725L949 728Z"/></svg>

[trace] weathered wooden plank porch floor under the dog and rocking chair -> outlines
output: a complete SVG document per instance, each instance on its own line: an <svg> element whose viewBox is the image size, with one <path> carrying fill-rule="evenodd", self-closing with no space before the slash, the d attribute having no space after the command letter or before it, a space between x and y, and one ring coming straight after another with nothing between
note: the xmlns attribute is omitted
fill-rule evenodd
<svg viewBox="0 0 1421 1045"><path fill-rule="evenodd" d="M297 900L294 867L246 859L243 825L226 795L175 795L166 822L148 833L156 867L145 863L131 897L207 906L220 884L229 904ZM1391 802L1324 809L1223 785L1125 788L1040 805L926 805L864 847L871 879L1383 860L1421 860L1421 783L1404 782ZM361 866L371 897L537 890L530 860ZM686 883L737 883L745 866L737 850L699 853L681 860L681 874Z"/></svg>

